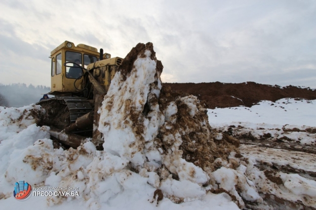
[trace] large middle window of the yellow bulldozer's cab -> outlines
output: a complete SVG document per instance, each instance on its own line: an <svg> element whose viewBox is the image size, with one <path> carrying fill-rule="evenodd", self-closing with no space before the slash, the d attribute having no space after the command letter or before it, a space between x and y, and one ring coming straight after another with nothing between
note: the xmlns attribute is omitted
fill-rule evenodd
<svg viewBox="0 0 316 210"><path fill-rule="evenodd" d="M72 79L79 78L82 75L82 69L79 68L79 67L82 67L81 53L67 51L66 62L75 63L75 64L67 64L67 66L69 67L66 67L66 77L72 78Z"/></svg>

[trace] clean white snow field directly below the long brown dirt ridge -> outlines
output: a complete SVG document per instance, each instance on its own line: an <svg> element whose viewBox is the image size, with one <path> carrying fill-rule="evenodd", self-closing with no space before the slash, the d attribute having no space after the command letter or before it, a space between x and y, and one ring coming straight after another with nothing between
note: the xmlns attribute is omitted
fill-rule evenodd
<svg viewBox="0 0 316 210"><path fill-rule="evenodd" d="M316 127L316 100L280 99L261 101L251 107L238 106L208 109L211 126L245 125L248 128L276 128L283 125Z"/></svg>

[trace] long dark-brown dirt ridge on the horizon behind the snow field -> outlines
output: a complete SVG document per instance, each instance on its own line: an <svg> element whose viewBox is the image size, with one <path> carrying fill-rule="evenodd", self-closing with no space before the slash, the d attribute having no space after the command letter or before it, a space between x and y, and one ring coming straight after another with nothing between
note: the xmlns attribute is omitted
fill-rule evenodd
<svg viewBox="0 0 316 210"><path fill-rule="evenodd" d="M207 102L208 108L239 105L250 107L262 100L275 102L283 98L316 99L316 90L291 85L283 88L255 82L163 83L163 85L170 86L173 91L182 91L197 96L199 100Z"/></svg>

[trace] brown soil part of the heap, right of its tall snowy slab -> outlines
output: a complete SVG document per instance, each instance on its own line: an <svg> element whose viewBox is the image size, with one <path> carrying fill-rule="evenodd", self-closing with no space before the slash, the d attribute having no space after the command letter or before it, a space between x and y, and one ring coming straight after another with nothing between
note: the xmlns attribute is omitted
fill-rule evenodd
<svg viewBox="0 0 316 210"><path fill-rule="evenodd" d="M167 121L160 128L158 139L160 139L162 148L168 151L173 147L174 142L168 142L163 137L182 134L182 143L179 147L182 150L182 158L202 168L205 172L213 172L216 168L214 163L216 158L229 161L228 156L232 151L239 153L239 141L225 134L221 140L215 140L215 134L208 123L205 104L196 104L197 113L192 117L189 114L190 108L182 101L186 98L185 95L173 92L167 86L162 87L158 99L159 108L166 109L170 103L175 102L178 111L173 123Z"/></svg>

